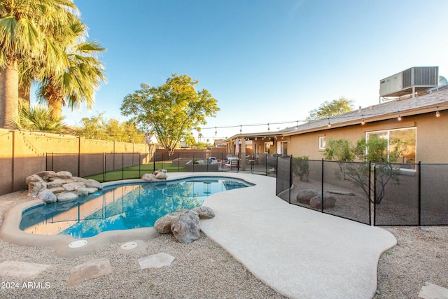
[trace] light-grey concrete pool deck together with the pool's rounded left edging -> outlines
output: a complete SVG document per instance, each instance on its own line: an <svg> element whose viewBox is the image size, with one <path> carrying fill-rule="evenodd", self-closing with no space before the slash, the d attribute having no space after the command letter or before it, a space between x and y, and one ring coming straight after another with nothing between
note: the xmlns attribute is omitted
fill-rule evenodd
<svg viewBox="0 0 448 299"><path fill-rule="evenodd" d="M214 209L216 216L201 220L201 228L263 283L288 298L373 297L379 257L396 244L390 232L288 204L274 195L272 177L224 172L194 175L232 176L256 183L208 197L204 205ZM189 176L169 173L169 179ZM152 228L102 232L86 238L88 246L69 249L74 240L70 236L38 236L18 229L22 211L33 205L36 201L25 202L4 214L2 239L6 236L6 241L15 244L50 246L63 256L67 252L78 256L111 242L155 236Z"/></svg>

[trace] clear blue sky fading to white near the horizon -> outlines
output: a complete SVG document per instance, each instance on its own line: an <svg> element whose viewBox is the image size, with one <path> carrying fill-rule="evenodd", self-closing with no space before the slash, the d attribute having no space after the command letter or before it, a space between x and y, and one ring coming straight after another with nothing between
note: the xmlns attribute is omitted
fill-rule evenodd
<svg viewBox="0 0 448 299"><path fill-rule="evenodd" d="M107 50L107 83L66 123L120 114L141 83L172 74L218 100L206 139L295 126L339 97L379 104L379 81L409 67L448 78L446 0L74 0L89 40ZM215 129L216 127L216 129ZM217 134L215 135L215 132Z"/></svg>

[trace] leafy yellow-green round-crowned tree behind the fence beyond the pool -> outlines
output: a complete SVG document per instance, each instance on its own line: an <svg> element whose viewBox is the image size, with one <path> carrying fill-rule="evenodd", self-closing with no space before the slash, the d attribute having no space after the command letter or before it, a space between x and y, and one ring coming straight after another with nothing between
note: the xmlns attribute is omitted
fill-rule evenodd
<svg viewBox="0 0 448 299"><path fill-rule="evenodd" d="M195 90L197 83L177 74L158 87L142 83L141 90L123 99L120 109L142 130L155 132L171 156L179 141L188 139L191 130L205 125L205 118L219 111L218 101L207 90Z"/></svg>

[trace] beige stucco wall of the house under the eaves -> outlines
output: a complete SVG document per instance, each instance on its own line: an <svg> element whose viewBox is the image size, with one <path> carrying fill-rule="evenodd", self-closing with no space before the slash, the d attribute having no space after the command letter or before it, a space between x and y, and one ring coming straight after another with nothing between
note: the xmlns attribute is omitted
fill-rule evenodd
<svg viewBox="0 0 448 299"><path fill-rule="evenodd" d="M392 130L406 127L416 127L416 161L422 163L448 163L448 116L436 118L434 113L420 116L407 116L401 121L394 119L382 120L365 125L351 125L349 127L330 127L319 132L297 134L290 137L288 154L295 157L308 156L310 160L321 160L323 150L318 149L318 139L349 139L353 144L365 132Z"/></svg>

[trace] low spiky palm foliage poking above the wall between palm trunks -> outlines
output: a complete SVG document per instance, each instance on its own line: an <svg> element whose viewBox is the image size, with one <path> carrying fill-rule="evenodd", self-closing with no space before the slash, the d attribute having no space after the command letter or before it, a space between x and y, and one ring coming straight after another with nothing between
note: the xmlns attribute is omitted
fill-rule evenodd
<svg viewBox="0 0 448 299"><path fill-rule="evenodd" d="M64 130L64 117L52 118L52 108L43 104L30 104L20 101L19 115L14 123L19 130L31 131L60 131Z"/></svg>

